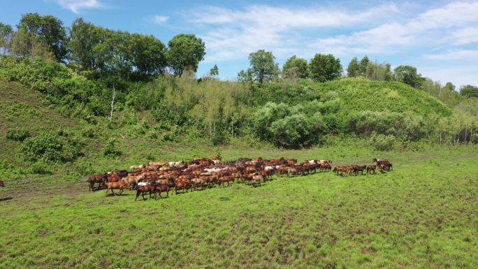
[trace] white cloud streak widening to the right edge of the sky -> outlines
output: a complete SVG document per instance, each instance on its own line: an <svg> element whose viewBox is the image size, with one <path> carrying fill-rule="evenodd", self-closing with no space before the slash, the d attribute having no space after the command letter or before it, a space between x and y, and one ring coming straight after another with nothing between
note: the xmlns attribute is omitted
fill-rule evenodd
<svg viewBox="0 0 478 269"><path fill-rule="evenodd" d="M388 23L349 35L319 38L312 44L337 54L393 54L407 47L435 48L478 41L478 2L449 3L428 10L405 23Z"/></svg>

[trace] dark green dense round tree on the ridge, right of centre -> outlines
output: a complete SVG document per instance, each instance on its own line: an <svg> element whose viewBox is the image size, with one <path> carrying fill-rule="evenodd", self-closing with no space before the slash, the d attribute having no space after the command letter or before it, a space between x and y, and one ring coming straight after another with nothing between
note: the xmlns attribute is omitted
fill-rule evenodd
<svg viewBox="0 0 478 269"><path fill-rule="evenodd" d="M310 77L319 82L335 80L342 76L340 59L335 59L332 54L315 54L309 64Z"/></svg>

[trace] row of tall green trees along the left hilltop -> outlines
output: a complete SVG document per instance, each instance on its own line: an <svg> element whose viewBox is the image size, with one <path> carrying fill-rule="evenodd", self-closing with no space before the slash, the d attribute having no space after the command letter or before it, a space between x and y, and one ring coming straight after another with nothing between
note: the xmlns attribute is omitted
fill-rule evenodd
<svg viewBox="0 0 478 269"><path fill-rule="evenodd" d="M0 52L20 58L43 57L93 75L121 75L132 80L197 71L205 44L194 34L178 34L165 45L152 35L130 34L85 22L71 27L52 15L22 15L17 30L0 23Z"/></svg>

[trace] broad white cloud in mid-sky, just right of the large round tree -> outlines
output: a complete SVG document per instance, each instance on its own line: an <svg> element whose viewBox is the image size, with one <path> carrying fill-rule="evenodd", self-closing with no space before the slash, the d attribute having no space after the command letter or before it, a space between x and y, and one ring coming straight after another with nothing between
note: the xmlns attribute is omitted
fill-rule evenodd
<svg viewBox="0 0 478 269"><path fill-rule="evenodd" d="M368 10L338 10L319 6L307 8L249 6L243 10L208 7L187 13L190 21L212 30L201 36L207 44L205 61L245 59L249 52L264 48L278 53L304 48L297 31L329 27L356 27L388 21L398 14L389 3ZM290 55L289 55L290 56Z"/></svg>

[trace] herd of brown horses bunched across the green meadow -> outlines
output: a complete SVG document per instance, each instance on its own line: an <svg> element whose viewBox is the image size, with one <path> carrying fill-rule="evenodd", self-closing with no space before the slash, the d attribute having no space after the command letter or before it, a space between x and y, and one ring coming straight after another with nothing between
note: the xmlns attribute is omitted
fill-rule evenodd
<svg viewBox="0 0 478 269"><path fill-rule="evenodd" d="M297 159L262 159L240 158L236 161L222 161L221 157L199 157L192 161L151 161L147 164L131 166L128 170L115 170L107 173L92 175L88 179L89 190L106 188L115 194L115 189L121 195L124 189L136 190L136 198L149 194L154 199L169 197L169 191L174 189L175 194L184 191L205 189L206 187L226 187L233 182L249 184L252 187L260 186L262 182L271 180L273 175L295 177L310 173L333 171L336 175L363 175L375 173L376 168L382 172L393 170L392 163L386 159L372 159L376 164L370 166L335 166L332 169L331 160L305 160L298 163ZM161 194L166 193L166 197Z"/></svg>

